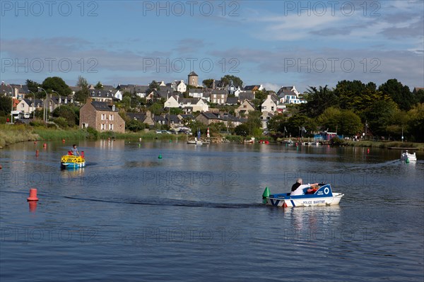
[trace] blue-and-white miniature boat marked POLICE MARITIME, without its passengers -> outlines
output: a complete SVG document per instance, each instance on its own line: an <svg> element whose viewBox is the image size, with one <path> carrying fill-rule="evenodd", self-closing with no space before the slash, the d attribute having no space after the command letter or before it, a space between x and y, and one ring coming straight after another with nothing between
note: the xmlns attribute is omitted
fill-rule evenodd
<svg viewBox="0 0 424 282"><path fill-rule="evenodd" d="M319 184L317 189L313 189L310 194L303 189L303 195L290 196L290 193L269 194L268 187L265 188L262 199L264 204L271 206L293 207L293 206L334 206L338 205L344 194L333 193L330 184ZM310 189L311 190L311 189Z"/></svg>

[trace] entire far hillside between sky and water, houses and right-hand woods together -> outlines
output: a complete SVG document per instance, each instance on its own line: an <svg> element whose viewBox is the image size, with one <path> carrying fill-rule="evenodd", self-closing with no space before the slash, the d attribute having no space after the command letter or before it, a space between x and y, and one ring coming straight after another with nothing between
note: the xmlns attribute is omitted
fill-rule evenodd
<svg viewBox="0 0 424 282"><path fill-rule="evenodd" d="M395 78L378 87L338 81L335 88L310 86L304 93L295 86L276 92L259 83L245 86L230 75L200 82L194 71L168 83L90 85L80 76L77 85L67 86L59 77L42 84L1 83L0 122L119 133L182 128L205 133L210 127L211 134L269 133L275 139L331 132L353 139L424 140L424 88L411 91Z"/></svg>

